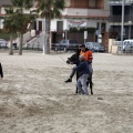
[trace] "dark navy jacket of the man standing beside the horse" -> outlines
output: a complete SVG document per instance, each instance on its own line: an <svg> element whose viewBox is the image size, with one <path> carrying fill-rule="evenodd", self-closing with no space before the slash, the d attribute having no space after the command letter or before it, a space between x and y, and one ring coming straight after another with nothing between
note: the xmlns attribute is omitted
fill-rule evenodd
<svg viewBox="0 0 133 133"><path fill-rule="evenodd" d="M79 75L89 74L89 65L86 61L82 61L78 66L74 68L74 71L79 72Z"/></svg>

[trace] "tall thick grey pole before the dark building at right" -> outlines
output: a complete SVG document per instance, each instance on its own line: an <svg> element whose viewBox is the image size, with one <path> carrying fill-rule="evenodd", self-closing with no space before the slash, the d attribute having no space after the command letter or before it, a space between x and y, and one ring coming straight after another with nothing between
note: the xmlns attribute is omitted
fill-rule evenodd
<svg viewBox="0 0 133 133"><path fill-rule="evenodd" d="M125 6L125 0L122 0L121 53L123 52L123 34L124 34L124 6Z"/></svg>

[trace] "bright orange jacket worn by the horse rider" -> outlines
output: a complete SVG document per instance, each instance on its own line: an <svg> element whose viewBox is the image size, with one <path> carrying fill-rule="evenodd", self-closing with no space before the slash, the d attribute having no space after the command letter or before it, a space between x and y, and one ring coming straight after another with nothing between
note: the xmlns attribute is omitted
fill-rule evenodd
<svg viewBox="0 0 133 133"><path fill-rule="evenodd" d="M85 58L85 61L88 61L88 62L92 62L92 60L93 60L93 54L92 54L92 51L85 51L85 52L80 52L80 55L84 55L84 58Z"/></svg>

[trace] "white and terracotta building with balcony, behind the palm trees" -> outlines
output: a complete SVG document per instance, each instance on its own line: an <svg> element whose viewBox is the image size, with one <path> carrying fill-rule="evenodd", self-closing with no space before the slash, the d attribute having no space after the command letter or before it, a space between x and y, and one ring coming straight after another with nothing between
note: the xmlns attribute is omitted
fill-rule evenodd
<svg viewBox="0 0 133 133"><path fill-rule="evenodd" d="M4 7L10 6L10 0L4 0L7 4L0 4L0 28L2 28L2 16L4 16ZM34 0L34 7L37 6ZM25 11L27 13L28 11ZM109 0L65 0L65 8L60 19L51 21L51 43L57 43L63 38L69 38L70 28L95 28L95 38L102 34L103 43L108 44L109 32ZM44 31L44 19L37 18L33 29L38 32ZM82 37L83 38L83 37ZM83 43L81 41L80 43Z"/></svg>

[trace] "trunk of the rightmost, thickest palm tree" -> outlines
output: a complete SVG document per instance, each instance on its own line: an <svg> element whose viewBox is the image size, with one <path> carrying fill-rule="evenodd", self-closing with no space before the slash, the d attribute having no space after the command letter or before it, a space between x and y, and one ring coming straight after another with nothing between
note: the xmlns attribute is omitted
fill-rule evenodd
<svg viewBox="0 0 133 133"><path fill-rule="evenodd" d="M45 19L47 42L44 44L44 53L50 54L50 19Z"/></svg>

